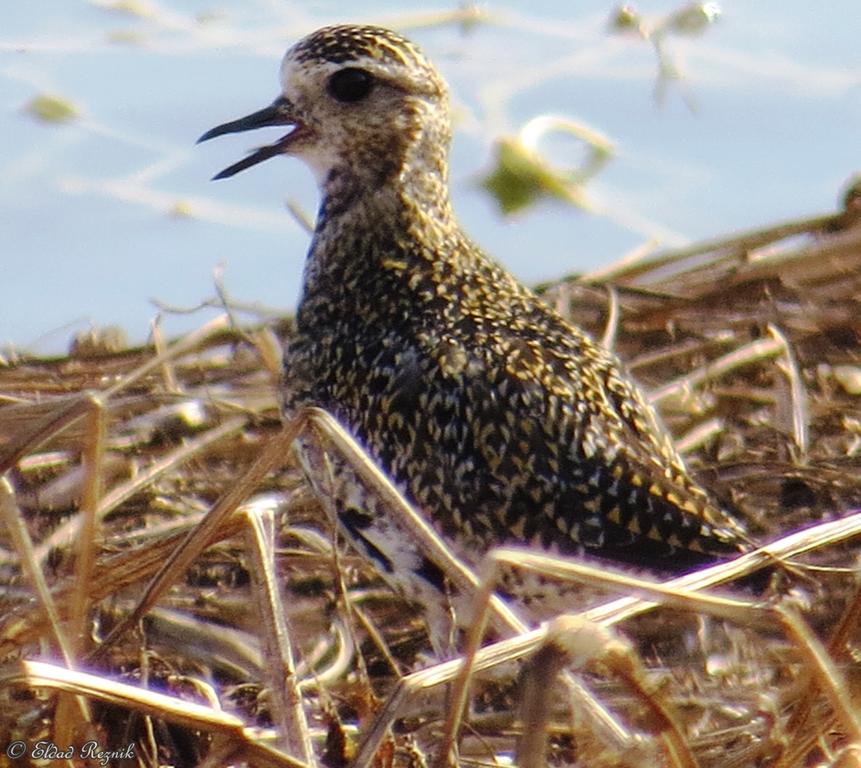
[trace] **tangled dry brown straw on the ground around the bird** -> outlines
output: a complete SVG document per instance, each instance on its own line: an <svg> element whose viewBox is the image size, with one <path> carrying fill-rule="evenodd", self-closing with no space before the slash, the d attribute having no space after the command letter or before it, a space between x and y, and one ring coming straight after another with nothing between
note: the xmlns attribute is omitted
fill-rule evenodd
<svg viewBox="0 0 861 768"><path fill-rule="evenodd" d="M335 542L291 446L305 430L353 449L319 412L282 426L271 330L219 319L8 362L0 734L93 739L116 764L132 744L146 765L858 765L856 200L542 289L616 348L769 546L669 584L500 551L485 577L575 579L572 616L527 631L491 603L471 669L434 664L421 616ZM776 559L765 593L710 591Z"/></svg>

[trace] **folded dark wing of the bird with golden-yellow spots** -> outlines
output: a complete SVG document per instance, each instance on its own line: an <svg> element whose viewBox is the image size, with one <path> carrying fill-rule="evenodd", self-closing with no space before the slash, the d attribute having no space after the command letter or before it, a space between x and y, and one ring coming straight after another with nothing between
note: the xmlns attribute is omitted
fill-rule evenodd
<svg viewBox="0 0 861 768"><path fill-rule="evenodd" d="M734 522L688 475L616 359L551 310L530 309L541 317L509 318L471 350L483 366L464 388L477 452L508 494L506 525L526 519L524 538L545 544L737 551Z"/></svg>

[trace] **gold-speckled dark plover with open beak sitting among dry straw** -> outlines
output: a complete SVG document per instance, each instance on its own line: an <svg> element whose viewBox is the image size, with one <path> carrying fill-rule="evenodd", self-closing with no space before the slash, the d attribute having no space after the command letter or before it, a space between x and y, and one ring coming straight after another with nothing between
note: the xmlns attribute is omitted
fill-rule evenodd
<svg viewBox="0 0 861 768"><path fill-rule="evenodd" d="M280 75L270 106L199 141L287 127L214 179L285 155L320 189L285 411L331 413L468 563L515 544L679 572L745 551L618 357L461 229L448 88L420 49L327 26ZM382 570L439 581L393 562L404 548L383 513L343 495L341 522Z"/></svg>

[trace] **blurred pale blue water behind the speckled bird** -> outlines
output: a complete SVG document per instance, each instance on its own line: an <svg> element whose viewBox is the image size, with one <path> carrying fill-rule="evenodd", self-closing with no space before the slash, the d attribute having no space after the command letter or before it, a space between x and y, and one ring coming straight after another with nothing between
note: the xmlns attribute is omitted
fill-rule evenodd
<svg viewBox="0 0 861 768"><path fill-rule="evenodd" d="M199 307L219 293L251 319L294 308L308 235L288 206L313 218L310 173L278 158L210 182L280 133L194 142L271 102L284 50L323 24L393 27L438 65L456 210L529 283L832 211L861 169L849 0L344 7L0 6L7 357L59 354L107 325L143 342L155 318L176 335L218 311ZM512 179L500 157L532 175Z"/></svg>

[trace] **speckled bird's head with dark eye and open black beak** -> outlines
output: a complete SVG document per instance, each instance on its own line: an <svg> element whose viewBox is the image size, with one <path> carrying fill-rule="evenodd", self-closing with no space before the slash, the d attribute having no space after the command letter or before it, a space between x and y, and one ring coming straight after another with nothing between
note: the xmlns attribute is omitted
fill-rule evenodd
<svg viewBox="0 0 861 768"><path fill-rule="evenodd" d="M201 136L289 126L215 178L275 155L304 160L325 190L349 176L381 186L409 172L446 172L450 138L445 82L409 40L380 27L324 27L281 64L281 95L268 107Z"/></svg>

